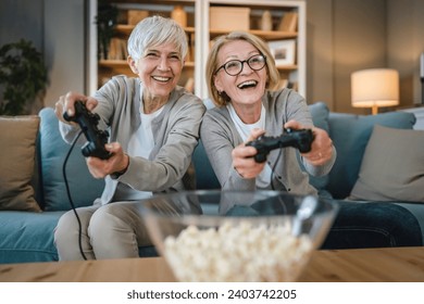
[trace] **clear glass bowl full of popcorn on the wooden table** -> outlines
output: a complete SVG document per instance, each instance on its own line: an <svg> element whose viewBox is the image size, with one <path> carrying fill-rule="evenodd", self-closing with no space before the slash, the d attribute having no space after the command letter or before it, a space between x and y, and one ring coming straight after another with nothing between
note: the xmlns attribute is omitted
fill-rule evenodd
<svg viewBox="0 0 424 304"><path fill-rule="evenodd" d="M179 281L296 281L337 205L280 191L188 191L140 202L150 238Z"/></svg>

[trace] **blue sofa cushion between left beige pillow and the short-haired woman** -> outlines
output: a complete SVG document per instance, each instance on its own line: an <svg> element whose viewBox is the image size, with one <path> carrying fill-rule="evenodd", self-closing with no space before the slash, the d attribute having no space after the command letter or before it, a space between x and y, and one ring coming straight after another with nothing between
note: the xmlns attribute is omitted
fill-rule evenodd
<svg viewBox="0 0 424 304"><path fill-rule="evenodd" d="M59 121L51 107L40 111L40 155L43 186L43 210L71 208L63 177L63 162L71 145L63 141ZM91 205L101 195L103 179L93 178L78 147L72 151L65 168L70 192L75 207Z"/></svg>

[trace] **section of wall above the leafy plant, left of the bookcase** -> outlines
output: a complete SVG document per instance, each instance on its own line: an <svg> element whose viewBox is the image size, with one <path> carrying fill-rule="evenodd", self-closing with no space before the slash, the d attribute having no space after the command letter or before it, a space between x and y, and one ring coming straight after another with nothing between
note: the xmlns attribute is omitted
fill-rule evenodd
<svg viewBox="0 0 424 304"><path fill-rule="evenodd" d="M53 106L67 90L86 91L85 0L1 0L0 46L21 38L45 53Z"/></svg>

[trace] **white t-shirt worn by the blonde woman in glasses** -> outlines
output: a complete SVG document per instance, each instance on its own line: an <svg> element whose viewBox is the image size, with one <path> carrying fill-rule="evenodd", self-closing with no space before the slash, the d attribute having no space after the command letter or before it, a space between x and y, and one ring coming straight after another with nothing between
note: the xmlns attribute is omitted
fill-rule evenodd
<svg viewBox="0 0 424 304"><path fill-rule="evenodd" d="M236 125L237 131L240 135L242 141L247 141L248 137L250 136L250 132L254 128L260 128L260 129L265 129L265 106L262 104L261 109L261 117L259 118L258 122L253 124L245 124L240 117L238 117L236 111L233 107L233 104L228 103L227 105L229 115L232 117L232 121ZM272 169L270 165L266 163L265 166L263 167L262 172L258 175L257 177L257 187L259 188L266 188L270 186L271 182L271 176L272 176Z"/></svg>

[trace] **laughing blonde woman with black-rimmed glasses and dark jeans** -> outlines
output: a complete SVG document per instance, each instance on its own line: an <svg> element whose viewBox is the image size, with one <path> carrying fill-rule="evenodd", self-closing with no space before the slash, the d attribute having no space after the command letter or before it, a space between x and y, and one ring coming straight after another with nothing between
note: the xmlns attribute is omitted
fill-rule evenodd
<svg viewBox="0 0 424 304"><path fill-rule="evenodd" d="M234 31L214 42L207 83L215 107L204 114L200 137L223 190L273 189L319 195L309 183L308 173L326 175L336 161L332 139L313 126L305 100L291 89L275 89L278 78L270 50L260 38ZM262 135L279 136L284 128L312 129L311 151L277 149L265 162L257 162L257 149L246 142ZM322 248L422 245L420 226L403 207L377 202L337 203L338 215Z"/></svg>

